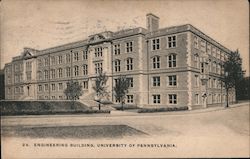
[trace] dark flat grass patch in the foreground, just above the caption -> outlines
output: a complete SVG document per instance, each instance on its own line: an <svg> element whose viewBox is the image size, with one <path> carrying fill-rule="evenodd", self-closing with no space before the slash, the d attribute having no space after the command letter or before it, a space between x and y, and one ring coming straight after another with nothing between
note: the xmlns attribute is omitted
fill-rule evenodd
<svg viewBox="0 0 250 159"><path fill-rule="evenodd" d="M122 138L132 135L146 135L127 125L88 125L52 127L4 127L3 136L30 138Z"/></svg>

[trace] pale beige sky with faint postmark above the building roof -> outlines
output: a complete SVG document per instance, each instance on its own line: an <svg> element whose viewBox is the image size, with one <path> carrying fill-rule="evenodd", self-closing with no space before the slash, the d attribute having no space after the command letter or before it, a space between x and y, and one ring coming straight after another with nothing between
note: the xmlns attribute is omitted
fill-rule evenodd
<svg viewBox="0 0 250 159"><path fill-rule="evenodd" d="M249 76L247 0L2 0L0 66L24 47L42 50L106 30L146 28L147 13L160 18L160 28L192 24L230 50L239 49Z"/></svg>

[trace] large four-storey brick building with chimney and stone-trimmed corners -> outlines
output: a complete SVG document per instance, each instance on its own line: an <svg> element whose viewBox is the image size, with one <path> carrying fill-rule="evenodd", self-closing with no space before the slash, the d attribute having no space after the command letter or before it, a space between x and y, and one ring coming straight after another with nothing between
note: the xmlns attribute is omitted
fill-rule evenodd
<svg viewBox="0 0 250 159"><path fill-rule="evenodd" d="M113 102L115 80L126 75L128 104L190 109L222 104L221 66L230 52L190 24L159 28L159 18L150 13L147 29L106 31L45 50L24 48L5 65L5 94L6 99L66 99L63 91L74 79L83 86L81 100L92 100L102 70Z"/></svg>

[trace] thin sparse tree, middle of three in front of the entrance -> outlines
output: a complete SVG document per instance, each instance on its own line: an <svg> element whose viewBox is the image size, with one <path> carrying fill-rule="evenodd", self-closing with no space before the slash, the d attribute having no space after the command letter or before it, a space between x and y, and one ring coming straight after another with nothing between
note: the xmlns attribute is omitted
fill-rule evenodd
<svg viewBox="0 0 250 159"><path fill-rule="evenodd" d="M101 99L103 97L109 96L109 93L107 91L107 86L106 86L107 81L108 81L108 77L106 76L106 74L99 71L98 76L96 77L95 86L93 86L93 89L96 92L96 96L97 96L96 101L98 102L99 110L101 110Z"/></svg>

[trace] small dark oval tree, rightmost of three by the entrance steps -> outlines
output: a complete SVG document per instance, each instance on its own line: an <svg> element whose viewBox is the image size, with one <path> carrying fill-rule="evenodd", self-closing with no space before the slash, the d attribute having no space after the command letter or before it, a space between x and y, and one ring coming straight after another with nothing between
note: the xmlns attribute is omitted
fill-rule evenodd
<svg viewBox="0 0 250 159"><path fill-rule="evenodd" d="M114 87L115 99L120 101L122 105L122 110L124 110L123 105L125 103L125 97L128 93L129 81L125 76L120 76Z"/></svg>

